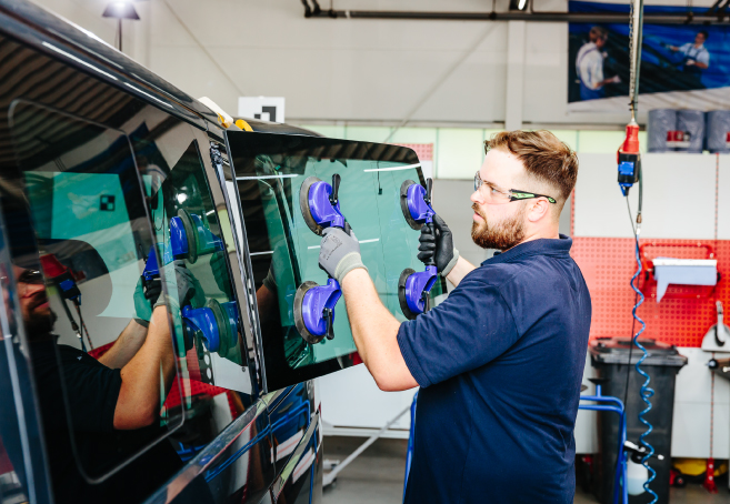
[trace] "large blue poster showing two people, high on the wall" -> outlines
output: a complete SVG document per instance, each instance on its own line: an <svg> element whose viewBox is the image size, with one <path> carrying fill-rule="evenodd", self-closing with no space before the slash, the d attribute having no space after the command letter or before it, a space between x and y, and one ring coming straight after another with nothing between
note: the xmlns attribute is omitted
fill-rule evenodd
<svg viewBox="0 0 730 504"><path fill-rule="evenodd" d="M569 23L570 111L619 111L629 95L628 4L570 1L570 12L626 12L626 23ZM707 9L694 9L701 13ZM644 13L687 14L687 7ZM730 27L644 24L639 107L713 110L730 107Z"/></svg>

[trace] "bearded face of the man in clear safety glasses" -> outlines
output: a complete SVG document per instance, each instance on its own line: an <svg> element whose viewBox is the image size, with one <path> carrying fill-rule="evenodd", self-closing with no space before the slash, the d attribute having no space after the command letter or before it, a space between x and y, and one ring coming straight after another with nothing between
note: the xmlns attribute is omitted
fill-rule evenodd
<svg viewBox="0 0 730 504"><path fill-rule="evenodd" d="M527 177L522 161L506 150L490 150L479 173L481 180L492 187L529 190L523 187ZM504 251L524 240L527 201L506 202L503 196L493 198L492 187L482 184L471 195L474 211L471 239L482 249Z"/></svg>

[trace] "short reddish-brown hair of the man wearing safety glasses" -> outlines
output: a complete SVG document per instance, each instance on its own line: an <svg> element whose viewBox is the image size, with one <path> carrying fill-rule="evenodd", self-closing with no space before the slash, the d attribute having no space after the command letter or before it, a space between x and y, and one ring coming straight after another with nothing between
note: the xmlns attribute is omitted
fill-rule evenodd
<svg viewBox="0 0 730 504"><path fill-rule="evenodd" d="M576 151L547 130L494 133L484 142L484 151L489 152L490 149L504 149L517 155L529 175L558 191L557 194L549 195L560 203L564 203L576 187L578 179Z"/></svg>

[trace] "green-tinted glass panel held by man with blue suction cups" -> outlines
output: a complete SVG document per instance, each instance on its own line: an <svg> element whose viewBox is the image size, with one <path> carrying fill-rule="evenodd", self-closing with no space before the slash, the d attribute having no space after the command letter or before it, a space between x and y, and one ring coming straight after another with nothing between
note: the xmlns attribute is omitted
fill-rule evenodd
<svg viewBox="0 0 730 504"><path fill-rule="evenodd" d="M420 232L408 224L400 202L404 181L424 184L416 153L397 145L260 133L229 134L229 143L257 281L269 382L280 383L287 369L323 364L317 373L322 374L347 365L357 349L343 299L336 306L333 340L310 344L296 327L297 289L304 281L328 281L318 263L321 236L304 221L300 188L310 177L329 183L333 174L341 177L342 214L360 241L381 301L404 321L398 299L401 272L424 269L416 256ZM442 293L440 281L432 299Z"/></svg>

